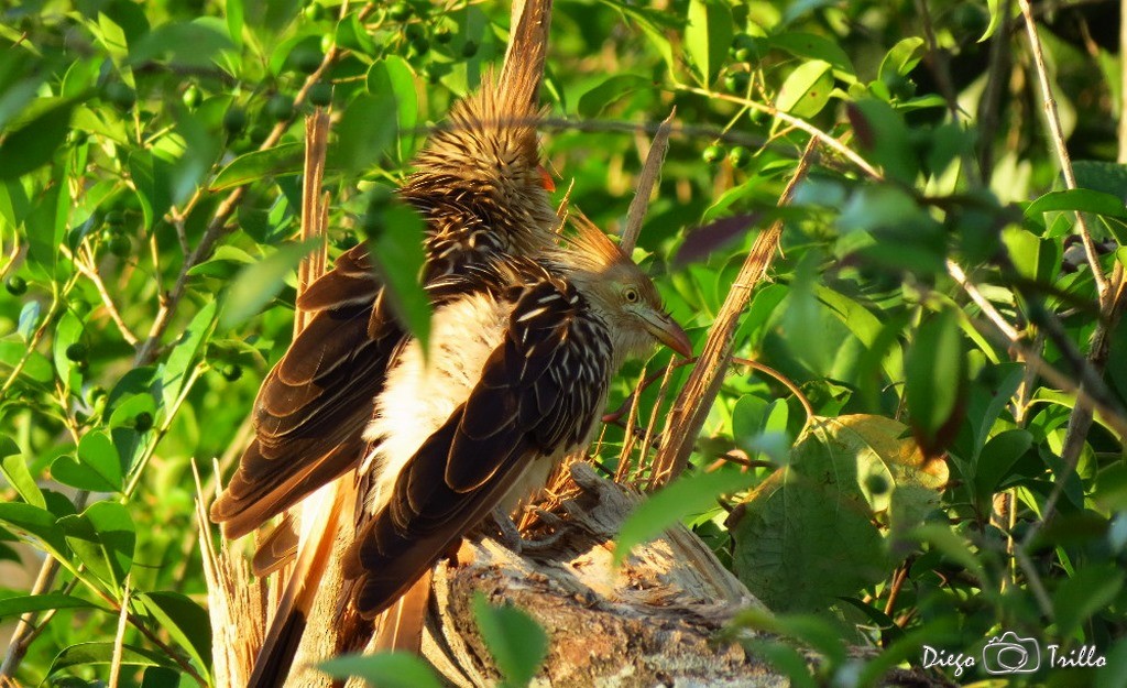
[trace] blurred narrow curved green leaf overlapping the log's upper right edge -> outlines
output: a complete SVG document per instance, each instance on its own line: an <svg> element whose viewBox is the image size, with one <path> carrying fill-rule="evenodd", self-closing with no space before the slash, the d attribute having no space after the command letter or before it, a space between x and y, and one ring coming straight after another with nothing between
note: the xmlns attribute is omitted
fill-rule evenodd
<svg viewBox="0 0 1127 688"><path fill-rule="evenodd" d="M747 489L755 482L751 473L700 473L677 478L649 495L627 518L614 545L614 562L621 564L630 550L659 536L683 519L716 506L716 499Z"/></svg>

